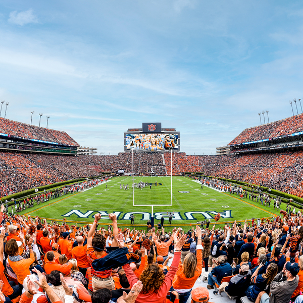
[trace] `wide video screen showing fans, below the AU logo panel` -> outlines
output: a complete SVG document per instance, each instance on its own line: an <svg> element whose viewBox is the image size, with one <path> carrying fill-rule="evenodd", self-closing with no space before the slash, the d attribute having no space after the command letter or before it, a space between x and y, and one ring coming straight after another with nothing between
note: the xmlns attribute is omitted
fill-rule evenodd
<svg viewBox="0 0 303 303"><path fill-rule="evenodd" d="M125 150L179 150L179 133L125 134Z"/></svg>

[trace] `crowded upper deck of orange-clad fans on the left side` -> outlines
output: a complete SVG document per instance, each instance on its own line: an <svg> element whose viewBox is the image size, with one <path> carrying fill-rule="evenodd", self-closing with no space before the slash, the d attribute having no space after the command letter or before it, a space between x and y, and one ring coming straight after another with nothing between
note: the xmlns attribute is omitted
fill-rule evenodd
<svg viewBox="0 0 303 303"><path fill-rule="evenodd" d="M0 118L0 136L20 138L36 143L80 146L66 132Z"/></svg>

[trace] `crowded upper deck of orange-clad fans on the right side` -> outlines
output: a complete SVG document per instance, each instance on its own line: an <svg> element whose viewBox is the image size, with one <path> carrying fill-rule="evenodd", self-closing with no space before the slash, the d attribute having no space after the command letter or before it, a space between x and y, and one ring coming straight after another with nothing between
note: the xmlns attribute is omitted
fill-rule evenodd
<svg viewBox="0 0 303 303"><path fill-rule="evenodd" d="M228 145L259 143L303 134L303 114L244 129Z"/></svg>

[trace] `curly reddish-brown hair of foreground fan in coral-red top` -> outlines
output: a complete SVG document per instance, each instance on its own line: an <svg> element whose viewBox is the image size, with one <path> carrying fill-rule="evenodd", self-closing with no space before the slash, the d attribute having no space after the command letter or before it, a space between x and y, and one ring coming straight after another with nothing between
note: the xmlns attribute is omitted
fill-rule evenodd
<svg viewBox="0 0 303 303"><path fill-rule="evenodd" d="M157 264L148 265L140 276L142 282L142 292L144 294L148 292L158 292L159 288L164 282L165 275L162 268Z"/></svg>

